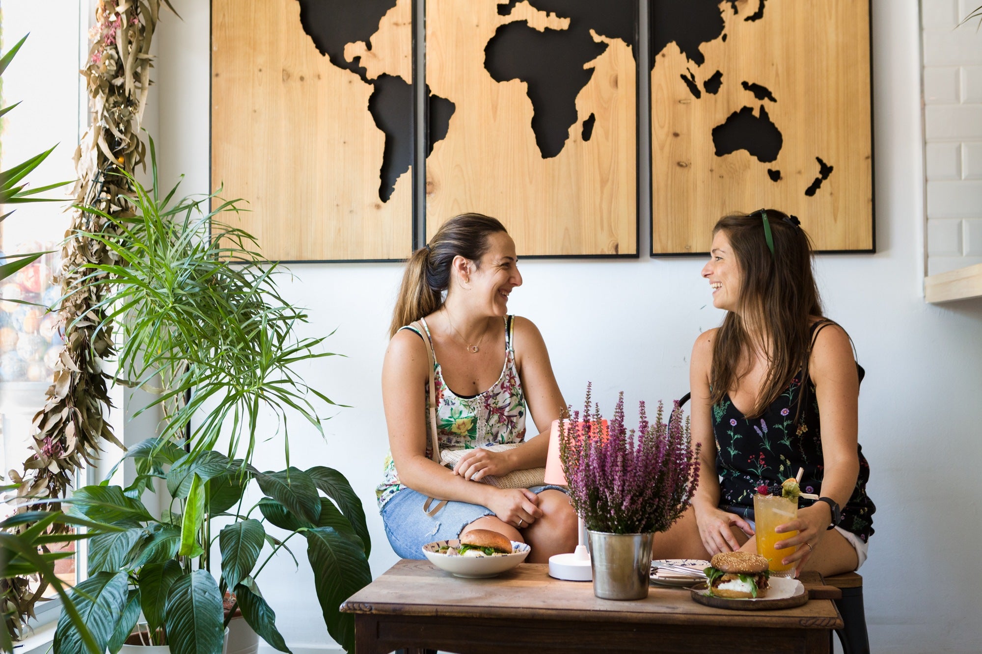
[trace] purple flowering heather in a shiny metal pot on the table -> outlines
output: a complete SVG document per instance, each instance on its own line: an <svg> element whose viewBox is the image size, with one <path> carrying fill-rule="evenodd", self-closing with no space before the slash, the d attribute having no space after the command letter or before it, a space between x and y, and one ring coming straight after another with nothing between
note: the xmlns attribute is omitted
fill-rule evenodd
<svg viewBox="0 0 982 654"><path fill-rule="evenodd" d="M591 416L592 410L592 416ZM570 502L586 523L593 592L615 600L648 596L654 534L685 510L699 479L699 446L691 447L688 419L676 403L668 422L661 403L649 422L640 403L637 429L627 430L624 393L606 429L586 387L583 421L560 423L560 456Z"/></svg>

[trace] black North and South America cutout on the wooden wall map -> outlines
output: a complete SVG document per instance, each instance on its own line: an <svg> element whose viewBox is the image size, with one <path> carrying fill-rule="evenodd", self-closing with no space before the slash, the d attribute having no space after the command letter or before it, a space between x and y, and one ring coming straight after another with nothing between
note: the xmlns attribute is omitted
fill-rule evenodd
<svg viewBox="0 0 982 654"><path fill-rule="evenodd" d="M310 36L317 51L333 66L350 71L361 82L373 86L368 98L368 113L375 126L385 135L385 149L379 170L378 196L389 201L396 181L412 165L412 86L400 77L380 75L369 80L360 59L345 59L345 45L364 41L371 47L371 36L397 0L298 0L300 25ZM430 148L433 142L447 135L454 103L439 96L430 96ZM438 107L437 111L433 111ZM434 124L435 123L435 124ZM439 138L436 138L439 135ZM435 138L435 140L434 140Z"/></svg>

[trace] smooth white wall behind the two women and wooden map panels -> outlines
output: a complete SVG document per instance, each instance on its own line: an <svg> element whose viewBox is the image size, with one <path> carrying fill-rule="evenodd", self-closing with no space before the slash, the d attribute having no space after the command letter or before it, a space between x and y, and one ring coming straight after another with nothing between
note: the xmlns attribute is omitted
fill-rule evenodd
<svg viewBox="0 0 982 654"><path fill-rule="evenodd" d="M176 0L164 14L156 64L162 172L188 174L187 191L208 187L208 3ZM919 17L911 1L874 0L875 255L819 258L828 313L849 331L866 367L860 440L872 468L876 535L865 578L876 651L975 652L982 568L978 396L982 390L982 302L926 304L924 275ZM982 35L979 36L982 39ZM978 44L982 48L982 40ZM261 156L261 153L257 153ZM642 179L646 172L642 172ZM302 192L284 189L284 192ZM642 233L642 242L646 239ZM627 399L670 401L687 386L696 335L717 325L698 259L523 261L514 312L542 330L568 402L587 380L609 407ZM374 509L387 447L379 397L386 327L401 268L395 264L294 265L286 295L310 307L310 335L337 328L332 352L306 381L351 409L326 425L327 442L291 422L301 465L321 463L351 479L368 514L374 575L396 561ZM282 464L282 444L262 446L258 465ZM960 508L956 508L960 507ZM300 555L301 552L298 552ZM279 561L259 584L291 646L324 647L308 568Z"/></svg>

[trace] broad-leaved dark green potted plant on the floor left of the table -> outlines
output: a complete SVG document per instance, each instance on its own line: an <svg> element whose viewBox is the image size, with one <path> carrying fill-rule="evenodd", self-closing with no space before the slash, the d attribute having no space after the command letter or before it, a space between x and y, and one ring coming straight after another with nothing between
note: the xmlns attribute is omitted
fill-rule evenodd
<svg viewBox="0 0 982 654"><path fill-rule="evenodd" d="M100 645L116 654L133 634L136 642L167 645L173 654L218 654L232 614L225 615L222 598L233 591L246 624L272 647L290 652L257 577L300 535L328 631L346 650L354 649L352 617L338 608L371 581L370 540L360 501L344 475L322 465L260 472L214 451L186 453L159 438L137 444L125 459L133 459L139 471L134 484L85 486L66 500L70 516L116 528L92 539L89 579L83 582L86 592L106 598L86 620L93 632L111 634ZM171 497L160 518L140 500L151 479L163 480ZM261 495L244 509L253 482ZM215 537L221 553L217 579L207 557L213 520L227 522ZM267 531L270 524L289 534L274 536ZM55 654L80 654L81 647L78 627L63 614Z"/></svg>

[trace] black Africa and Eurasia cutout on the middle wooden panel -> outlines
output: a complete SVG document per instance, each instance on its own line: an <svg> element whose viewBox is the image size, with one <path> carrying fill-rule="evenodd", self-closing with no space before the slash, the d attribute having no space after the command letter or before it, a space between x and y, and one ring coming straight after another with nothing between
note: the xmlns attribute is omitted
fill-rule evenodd
<svg viewBox="0 0 982 654"><path fill-rule="evenodd" d="M499 2L498 13L508 16L517 4L517 0ZM576 96L593 77L593 69L584 70L583 65L607 50L606 43L593 40L590 29L631 45L634 4L628 0L531 0L530 4L569 19L570 26L539 31L517 21L498 27L484 47L484 68L496 82L527 84L535 143L542 158L549 159L563 150L578 119ZM587 134L585 121L583 129ZM592 129L591 123L590 135Z"/></svg>

